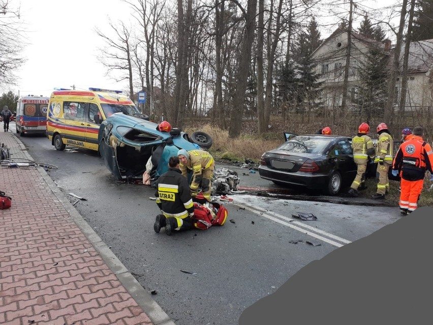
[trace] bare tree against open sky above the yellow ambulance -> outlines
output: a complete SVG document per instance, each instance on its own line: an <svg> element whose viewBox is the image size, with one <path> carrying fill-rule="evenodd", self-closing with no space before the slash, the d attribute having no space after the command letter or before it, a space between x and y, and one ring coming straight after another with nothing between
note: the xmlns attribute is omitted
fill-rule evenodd
<svg viewBox="0 0 433 325"><path fill-rule="evenodd" d="M132 45L133 39L131 37L130 29L123 22L119 21L118 25L115 25L109 20L109 25L116 34L116 38L111 38L106 34L102 33L99 28L95 31L98 36L102 37L107 46L100 49L102 57L99 58L100 62L108 68L107 75L112 71L120 71L119 77L114 76L114 80L129 81L129 96L134 97L134 86L133 86L133 61L132 61Z"/></svg>

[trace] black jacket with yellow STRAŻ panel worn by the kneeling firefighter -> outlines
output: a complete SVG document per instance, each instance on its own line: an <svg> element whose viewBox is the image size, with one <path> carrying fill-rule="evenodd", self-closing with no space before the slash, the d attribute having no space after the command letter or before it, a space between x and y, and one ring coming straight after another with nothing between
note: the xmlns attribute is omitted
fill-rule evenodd
<svg viewBox="0 0 433 325"><path fill-rule="evenodd" d="M186 218L194 212L187 179L177 168L169 168L160 176L155 192L157 204L166 217Z"/></svg>

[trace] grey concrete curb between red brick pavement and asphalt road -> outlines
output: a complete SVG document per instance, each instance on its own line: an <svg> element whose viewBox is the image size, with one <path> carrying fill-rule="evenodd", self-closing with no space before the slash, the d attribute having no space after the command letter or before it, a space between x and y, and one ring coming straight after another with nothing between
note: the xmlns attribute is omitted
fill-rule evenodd
<svg viewBox="0 0 433 325"><path fill-rule="evenodd" d="M13 132L11 133L21 147L21 151L24 153L25 156L27 156L27 159L34 160L33 157L30 156L30 154L27 152L27 149L25 145L21 142L21 140ZM165 311L157 304L157 302L151 298L150 294L128 271L125 265L122 264L122 262L117 258L117 256L102 241L99 235L84 220L84 218L75 209L69 199L58 189L57 185L50 178L45 169L43 167L36 168L39 170L39 173L41 174L48 188L55 195L57 200L64 206L65 210L69 213L72 220L81 229L88 241L95 247L97 252L101 255L104 262L114 273L120 283L128 290L128 292L131 294L131 297L147 314L153 325L176 325L165 313Z"/></svg>

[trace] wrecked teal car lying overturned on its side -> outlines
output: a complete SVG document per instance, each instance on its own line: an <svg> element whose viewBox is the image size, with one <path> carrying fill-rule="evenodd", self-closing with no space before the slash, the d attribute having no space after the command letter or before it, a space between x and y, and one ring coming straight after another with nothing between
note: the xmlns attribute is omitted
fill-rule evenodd
<svg viewBox="0 0 433 325"><path fill-rule="evenodd" d="M118 180L142 180L147 171L153 186L168 170L169 158L176 156L179 149L206 150L212 145L207 133L197 131L190 137L176 128L162 132L158 124L147 121L147 115L142 117L115 113L101 123L98 151Z"/></svg>

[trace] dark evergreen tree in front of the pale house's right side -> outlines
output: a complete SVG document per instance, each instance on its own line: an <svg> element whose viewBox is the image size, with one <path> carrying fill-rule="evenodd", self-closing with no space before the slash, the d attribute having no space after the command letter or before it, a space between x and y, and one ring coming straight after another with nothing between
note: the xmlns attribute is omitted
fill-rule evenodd
<svg viewBox="0 0 433 325"><path fill-rule="evenodd" d="M384 70L385 55L379 48L372 48L366 61L358 68L360 86L353 102L360 107L367 123L372 116L381 116L388 97L387 74Z"/></svg>

